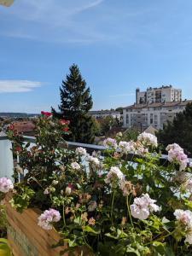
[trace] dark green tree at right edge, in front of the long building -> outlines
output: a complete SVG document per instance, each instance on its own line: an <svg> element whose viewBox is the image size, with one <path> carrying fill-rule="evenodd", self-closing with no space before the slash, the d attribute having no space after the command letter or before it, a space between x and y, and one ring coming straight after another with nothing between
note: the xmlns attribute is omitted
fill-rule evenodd
<svg viewBox="0 0 192 256"><path fill-rule="evenodd" d="M160 143L166 147L177 143L185 152L192 156L192 103L188 103L183 112L177 113L172 122L164 125L163 130L157 133Z"/></svg>

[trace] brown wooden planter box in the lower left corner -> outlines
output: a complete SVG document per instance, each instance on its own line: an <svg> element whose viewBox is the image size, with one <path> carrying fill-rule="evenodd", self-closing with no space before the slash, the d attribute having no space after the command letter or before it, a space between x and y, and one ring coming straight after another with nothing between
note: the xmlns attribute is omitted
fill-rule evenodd
<svg viewBox="0 0 192 256"><path fill-rule="evenodd" d="M52 248L60 240L55 230L43 230L38 226L38 209L26 209L16 212L9 204L9 196L5 200L8 219L8 240L14 256L56 256L65 247ZM64 254L65 256L68 253ZM75 255L81 255L80 250ZM90 253L84 250L84 254Z"/></svg>

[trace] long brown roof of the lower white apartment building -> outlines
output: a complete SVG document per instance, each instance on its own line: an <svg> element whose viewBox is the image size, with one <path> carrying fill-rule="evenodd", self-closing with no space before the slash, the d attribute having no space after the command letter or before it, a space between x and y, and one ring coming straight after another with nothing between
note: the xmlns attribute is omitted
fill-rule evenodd
<svg viewBox="0 0 192 256"><path fill-rule="evenodd" d="M192 100L183 101L183 102L157 102L157 103L150 103L150 104L134 104L124 109L138 109L138 108L166 108L166 107L175 107L175 106L186 106L188 103L192 103Z"/></svg>

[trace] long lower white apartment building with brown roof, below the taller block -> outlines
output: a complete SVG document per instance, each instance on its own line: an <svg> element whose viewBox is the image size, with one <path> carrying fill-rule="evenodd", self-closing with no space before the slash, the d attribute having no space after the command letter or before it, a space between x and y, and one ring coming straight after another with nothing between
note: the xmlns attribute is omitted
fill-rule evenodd
<svg viewBox="0 0 192 256"><path fill-rule="evenodd" d="M163 125L169 120L172 121L176 115L183 111L187 103L181 102L161 102L151 104L134 104L123 109L123 127L140 127L146 129L153 125L156 129L162 129Z"/></svg>

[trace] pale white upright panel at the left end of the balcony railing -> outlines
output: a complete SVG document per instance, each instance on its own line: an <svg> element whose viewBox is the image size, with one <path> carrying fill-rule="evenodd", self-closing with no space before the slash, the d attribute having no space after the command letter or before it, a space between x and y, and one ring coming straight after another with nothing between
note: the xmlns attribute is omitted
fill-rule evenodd
<svg viewBox="0 0 192 256"><path fill-rule="evenodd" d="M9 139L0 140L0 177L8 177L13 180L14 159L12 144Z"/></svg>

